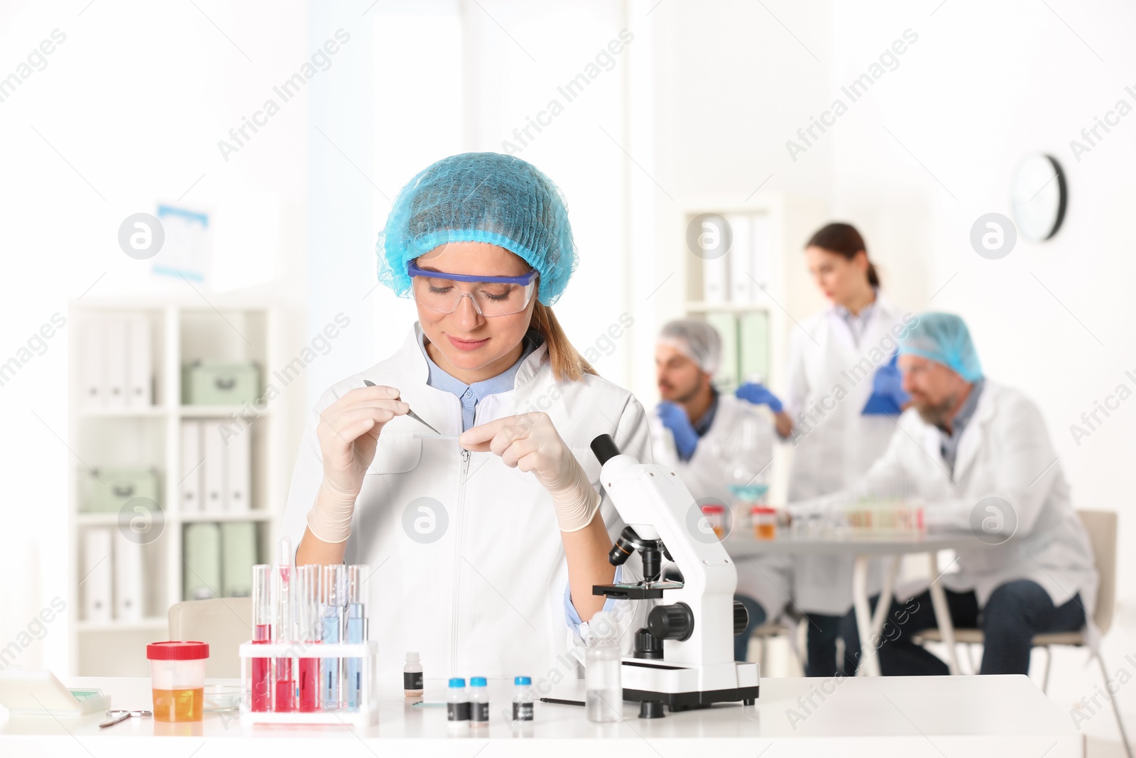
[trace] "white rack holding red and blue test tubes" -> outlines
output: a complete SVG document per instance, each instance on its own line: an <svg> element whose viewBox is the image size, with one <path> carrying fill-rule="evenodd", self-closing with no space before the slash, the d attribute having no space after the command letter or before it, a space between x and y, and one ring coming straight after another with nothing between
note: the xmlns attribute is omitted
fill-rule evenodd
<svg viewBox="0 0 1136 758"><path fill-rule="evenodd" d="M242 642L237 648L241 657L241 722L244 724L337 724L357 727L374 726L378 723L377 682L378 642L337 642L337 643L303 643L303 642ZM359 708L349 710L345 707L336 710L323 708L312 711L291 710L286 713L274 710L252 710L252 659L253 658L291 658L292 668L296 670L301 658L325 660L334 658L360 659L362 673L359 693Z"/></svg>

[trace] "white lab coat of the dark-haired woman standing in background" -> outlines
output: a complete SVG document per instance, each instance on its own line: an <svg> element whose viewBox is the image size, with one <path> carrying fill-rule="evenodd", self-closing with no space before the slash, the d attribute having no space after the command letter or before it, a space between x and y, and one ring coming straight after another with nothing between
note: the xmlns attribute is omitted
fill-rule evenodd
<svg viewBox="0 0 1136 758"><path fill-rule="evenodd" d="M835 307L793 331L783 399L794 424L791 503L851 485L884 453L895 432L895 417L860 411L871 397L876 369L896 349L905 317L913 318L877 290L859 343ZM799 556L793 563L793 599L805 613L843 615L852 606L851 576L851 557ZM874 561L869 590L878 586Z"/></svg>

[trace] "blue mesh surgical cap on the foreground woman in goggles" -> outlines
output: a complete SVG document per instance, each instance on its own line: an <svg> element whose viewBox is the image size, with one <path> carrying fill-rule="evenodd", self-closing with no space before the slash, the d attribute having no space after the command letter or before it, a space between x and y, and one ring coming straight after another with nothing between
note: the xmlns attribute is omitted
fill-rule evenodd
<svg viewBox="0 0 1136 758"><path fill-rule="evenodd" d="M546 306L576 269L560 190L516 156L463 152L410 180L378 235L378 281L404 295L407 264L446 242L490 242L519 256L540 272L537 299Z"/></svg>

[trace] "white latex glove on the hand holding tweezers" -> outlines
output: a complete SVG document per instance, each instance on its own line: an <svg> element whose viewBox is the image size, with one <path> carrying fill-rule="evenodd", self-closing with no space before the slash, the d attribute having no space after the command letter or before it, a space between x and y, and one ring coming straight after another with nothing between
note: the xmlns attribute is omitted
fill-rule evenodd
<svg viewBox="0 0 1136 758"><path fill-rule="evenodd" d="M364 475L375 459L383 426L410 410L392 386L361 386L346 392L319 415L316 438L324 459L324 481L308 511L308 528L323 542L343 542L351 534L354 501Z"/></svg>

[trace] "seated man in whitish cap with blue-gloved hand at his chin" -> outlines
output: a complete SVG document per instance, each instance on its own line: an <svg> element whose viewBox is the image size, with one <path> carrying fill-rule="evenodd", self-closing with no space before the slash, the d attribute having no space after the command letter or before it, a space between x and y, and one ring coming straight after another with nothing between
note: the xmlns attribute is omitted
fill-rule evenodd
<svg viewBox="0 0 1136 758"><path fill-rule="evenodd" d="M674 466L699 505L730 511L729 484L753 484L768 473L774 425L753 405L721 394L711 378L721 361L721 339L705 322L674 320L654 350L662 401L651 418L655 461ZM737 593L750 614L734 638L734 659L745 660L753 630L780 615L788 598L790 559L768 556L738 561Z"/></svg>

